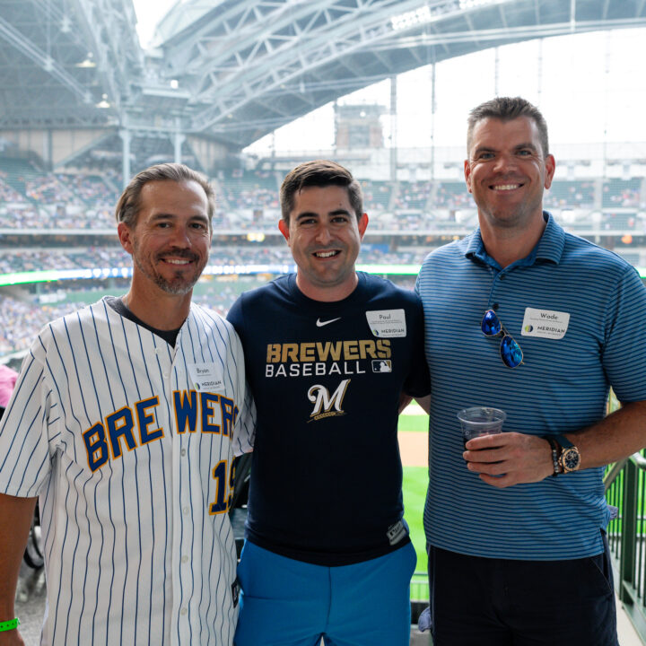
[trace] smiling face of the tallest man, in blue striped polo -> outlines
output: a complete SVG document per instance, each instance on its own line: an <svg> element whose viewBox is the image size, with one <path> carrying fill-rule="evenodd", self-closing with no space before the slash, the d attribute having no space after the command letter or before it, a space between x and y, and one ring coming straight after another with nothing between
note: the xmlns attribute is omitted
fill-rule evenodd
<svg viewBox="0 0 646 646"><path fill-rule="evenodd" d="M552 184L554 157L544 154L534 120L484 118L470 144L465 179L481 228L523 231L542 223L543 191Z"/></svg>

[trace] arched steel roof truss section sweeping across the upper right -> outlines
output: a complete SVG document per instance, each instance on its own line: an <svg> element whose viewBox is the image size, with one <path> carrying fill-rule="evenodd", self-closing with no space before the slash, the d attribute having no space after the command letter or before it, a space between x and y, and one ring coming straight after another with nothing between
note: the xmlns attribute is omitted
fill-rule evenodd
<svg viewBox="0 0 646 646"><path fill-rule="evenodd" d="M190 129L250 143L390 75L477 49L646 24L644 2L229 0L176 5L159 26Z"/></svg>

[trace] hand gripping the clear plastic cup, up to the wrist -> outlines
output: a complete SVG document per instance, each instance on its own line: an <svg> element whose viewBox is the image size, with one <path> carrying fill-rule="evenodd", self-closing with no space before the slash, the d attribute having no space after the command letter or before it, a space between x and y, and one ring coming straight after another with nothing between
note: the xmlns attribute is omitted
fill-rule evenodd
<svg viewBox="0 0 646 646"><path fill-rule="evenodd" d="M502 432L467 441L467 468L499 488L540 482L554 473L549 442L537 435Z"/></svg>

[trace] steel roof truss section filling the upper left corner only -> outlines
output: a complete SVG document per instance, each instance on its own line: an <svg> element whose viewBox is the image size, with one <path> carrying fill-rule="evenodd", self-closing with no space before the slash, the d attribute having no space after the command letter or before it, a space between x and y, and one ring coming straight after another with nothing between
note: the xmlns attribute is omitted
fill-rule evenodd
<svg viewBox="0 0 646 646"><path fill-rule="evenodd" d="M118 123L144 70L132 0L0 6L0 128Z"/></svg>

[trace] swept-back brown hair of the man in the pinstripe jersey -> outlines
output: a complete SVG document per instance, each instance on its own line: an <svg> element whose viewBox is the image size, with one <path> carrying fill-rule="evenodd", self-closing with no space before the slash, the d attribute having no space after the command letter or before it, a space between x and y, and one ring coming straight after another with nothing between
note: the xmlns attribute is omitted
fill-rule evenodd
<svg viewBox="0 0 646 646"><path fill-rule="evenodd" d="M215 211L215 193L205 176L196 170L188 168L180 163L163 163L151 166L138 172L124 189L118 199L115 217L117 222L126 223L130 227L136 224L137 214L141 208L141 192L146 184L152 181L194 181L199 184L205 192L208 202L209 223L213 219Z"/></svg>

